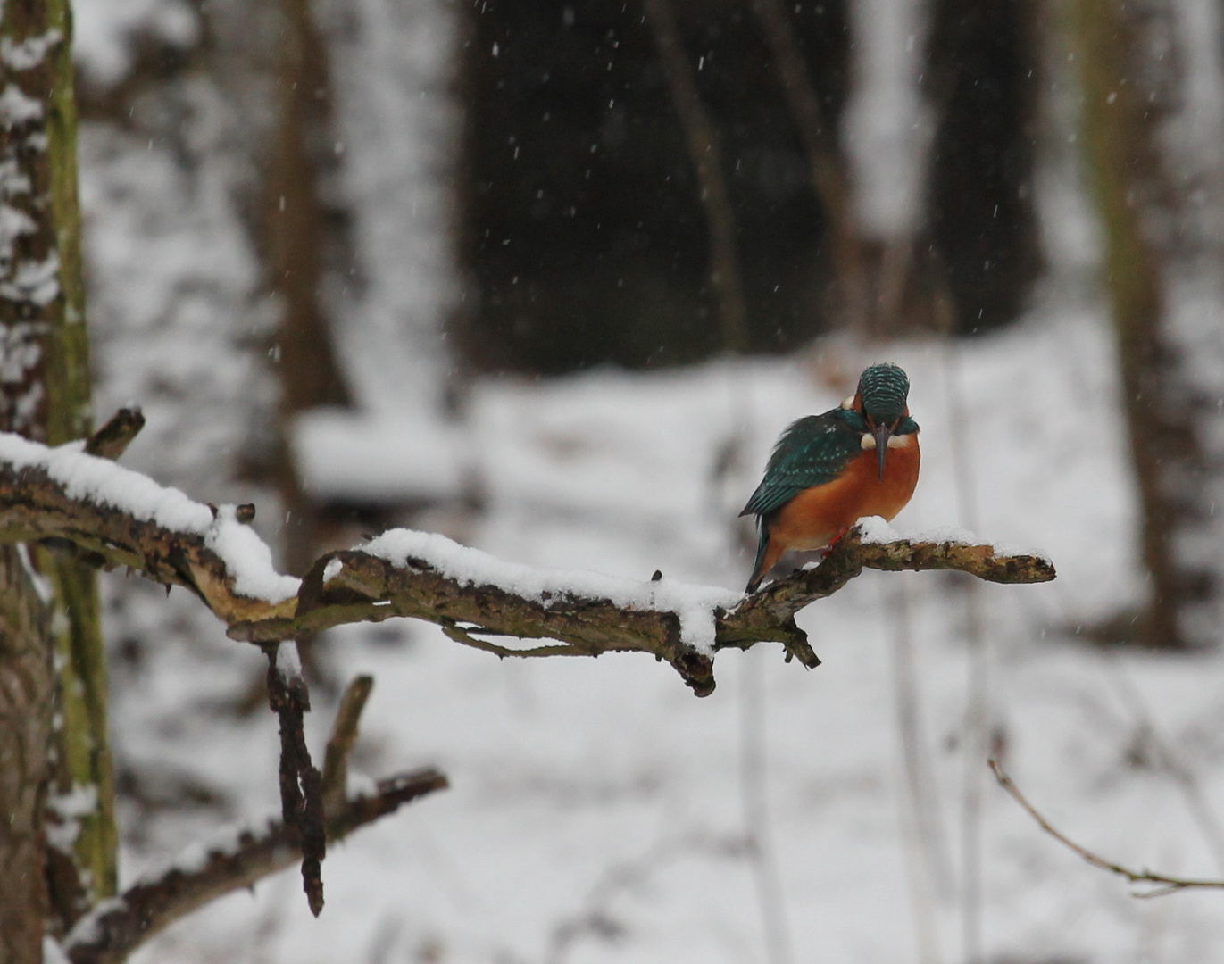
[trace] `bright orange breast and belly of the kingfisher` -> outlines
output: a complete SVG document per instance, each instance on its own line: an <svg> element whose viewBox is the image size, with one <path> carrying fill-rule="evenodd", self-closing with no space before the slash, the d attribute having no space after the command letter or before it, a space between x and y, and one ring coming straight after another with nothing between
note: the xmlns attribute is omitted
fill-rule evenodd
<svg viewBox="0 0 1224 964"><path fill-rule="evenodd" d="M891 520L913 495L920 461L918 436L900 438L906 444L889 449L883 481L875 451L867 450L832 482L805 489L783 505L770 526L771 548L820 549L868 515Z"/></svg>

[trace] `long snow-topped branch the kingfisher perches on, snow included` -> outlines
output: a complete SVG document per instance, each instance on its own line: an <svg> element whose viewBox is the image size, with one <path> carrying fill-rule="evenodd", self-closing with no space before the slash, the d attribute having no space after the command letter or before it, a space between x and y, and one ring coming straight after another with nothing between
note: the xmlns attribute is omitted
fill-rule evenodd
<svg viewBox="0 0 1224 964"><path fill-rule="evenodd" d="M863 569L955 569L993 582L1045 582L1055 575L1048 559L996 552L968 533L900 538L883 524L863 524L820 565L748 597L659 573L636 581L518 565L409 530L327 553L297 580L273 569L269 548L246 525L252 517L253 506L192 502L80 445L48 449L0 434L0 542L73 546L95 565L126 565L185 586L226 624L231 639L256 643L412 617L498 656L647 652L704 696L714 690L720 648L775 641L787 658L818 666L796 613ZM523 646L521 640L548 642Z"/></svg>

